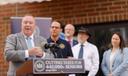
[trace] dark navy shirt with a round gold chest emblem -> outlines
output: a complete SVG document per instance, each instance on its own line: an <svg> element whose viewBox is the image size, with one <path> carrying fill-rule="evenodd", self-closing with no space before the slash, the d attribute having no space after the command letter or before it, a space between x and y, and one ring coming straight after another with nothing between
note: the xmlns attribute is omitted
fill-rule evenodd
<svg viewBox="0 0 128 76"><path fill-rule="evenodd" d="M51 38L47 39L48 43L55 43ZM67 58L73 57L72 50L70 44L61 38L56 41L58 48L50 48L50 50L54 53L55 58Z"/></svg>

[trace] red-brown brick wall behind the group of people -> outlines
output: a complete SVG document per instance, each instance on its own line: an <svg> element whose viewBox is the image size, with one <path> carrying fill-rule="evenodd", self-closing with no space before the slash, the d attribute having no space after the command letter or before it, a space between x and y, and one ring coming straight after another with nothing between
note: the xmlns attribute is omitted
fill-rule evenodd
<svg viewBox="0 0 128 76"><path fill-rule="evenodd" d="M31 13L52 17L64 24L89 24L128 20L128 0L52 0L42 3L0 6L0 76L6 76L8 63L3 58L4 40L10 34L10 17Z"/></svg>

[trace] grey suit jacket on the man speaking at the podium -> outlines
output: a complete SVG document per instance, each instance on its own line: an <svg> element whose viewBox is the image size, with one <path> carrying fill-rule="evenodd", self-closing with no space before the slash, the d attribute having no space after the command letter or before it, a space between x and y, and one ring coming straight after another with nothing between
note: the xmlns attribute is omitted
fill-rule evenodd
<svg viewBox="0 0 128 76"><path fill-rule="evenodd" d="M45 50L46 58L53 58L53 54L49 50L46 50L43 46L46 42L47 41L43 37L34 35L35 46L41 47ZM8 76L15 76L16 69L26 61L25 50L27 49L27 44L22 33L11 34L7 37L4 56L5 59L9 61Z"/></svg>

